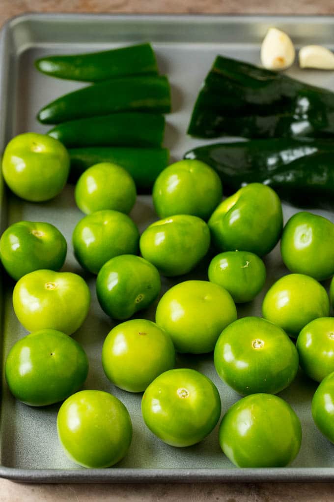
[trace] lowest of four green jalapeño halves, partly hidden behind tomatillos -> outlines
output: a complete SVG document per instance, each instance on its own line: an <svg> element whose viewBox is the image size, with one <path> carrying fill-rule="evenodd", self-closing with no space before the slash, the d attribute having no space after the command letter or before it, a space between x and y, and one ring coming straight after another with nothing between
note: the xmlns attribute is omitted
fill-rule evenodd
<svg viewBox="0 0 334 502"><path fill-rule="evenodd" d="M89 167L100 162L112 162L124 167L133 177L137 191L149 191L158 175L167 167L166 148L92 147L69 150L70 181L75 182Z"/></svg>

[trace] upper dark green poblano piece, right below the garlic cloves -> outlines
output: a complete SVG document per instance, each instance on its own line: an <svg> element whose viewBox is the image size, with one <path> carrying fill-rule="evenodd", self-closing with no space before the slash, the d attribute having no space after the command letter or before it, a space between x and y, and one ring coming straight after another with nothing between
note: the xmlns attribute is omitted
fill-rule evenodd
<svg viewBox="0 0 334 502"><path fill-rule="evenodd" d="M217 56L188 134L200 138L334 135L334 93L279 72Z"/></svg>

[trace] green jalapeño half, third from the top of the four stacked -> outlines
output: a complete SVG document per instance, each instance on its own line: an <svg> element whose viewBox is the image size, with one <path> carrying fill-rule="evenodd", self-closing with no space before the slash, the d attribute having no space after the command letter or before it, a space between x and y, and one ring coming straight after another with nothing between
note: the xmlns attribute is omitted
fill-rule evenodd
<svg viewBox="0 0 334 502"><path fill-rule="evenodd" d="M48 132L67 148L160 147L165 118L156 113L112 113L58 124Z"/></svg>

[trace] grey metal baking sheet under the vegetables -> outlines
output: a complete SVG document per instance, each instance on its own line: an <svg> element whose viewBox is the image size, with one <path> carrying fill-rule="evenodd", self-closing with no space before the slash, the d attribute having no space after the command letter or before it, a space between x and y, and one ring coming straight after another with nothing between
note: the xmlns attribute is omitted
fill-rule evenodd
<svg viewBox="0 0 334 502"><path fill-rule="evenodd" d="M219 17L219 16L107 16L27 15L11 20L2 30L0 42L0 148L15 135L27 131L46 132L36 120L39 108L57 96L83 84L53 79L35 70L36 58L55 53L94 51L142 41L152 42L161 73L172 84L173 112L167 116L165 145L172 160L181 159L195 145L186 136L191 109L200 84L216 54L258 63L261 40L270 26L285 30L297 47L324 44L334 49L334 18L330 17ZM301 71L297 64L287 72L293 77L334 90L333 72ZM32 482L120 482L120 481L323 481L334 480L334 446L315 428L310 401L315 383L301 373L280 396L300 418L303 439L292 464L277 469L237 469L222 454L218 427L201 443L173 448L158 440L144 425L140 394L112 386L101 366L101 347L113 322L103 314L95 295L95 279L83 273L71 247L71 234L82 217L76 208L73 187L45 204L23 202L0 185L2 231L22 220L49 221L69 243L64 270L80 273L92 291L92 306L84 325L74 338L88 353L90 371L86 389L101 389L116 395L127 406L134 426L131 448L126 457L109 469L84 469L67 459L57 439L56 415L59 405L30 408L9 393L2 376L0 415L0 476ZM284 206L285 220L295 208ZM332 221L329 212L314 211ZM142 231L156 219L148 196L138 197L132 217ZM256 301L238 308L238 315L260 315L261 302L270 285L287 271L276 247L265 259L268 278ZM189 277L206 279L206 265ZM187 279L189 277L185 277ZM163 290L173 284L164 280ZM5 276L1 283L1 355L4 362L10 347L27 334L12 308L14 283ZM326 285L328 286L328 284ZM142 314L154 319L154 308ZM178 366L196 368L217 385L225 412L238 396L218 378L212 356L180 356Z"/></svg>

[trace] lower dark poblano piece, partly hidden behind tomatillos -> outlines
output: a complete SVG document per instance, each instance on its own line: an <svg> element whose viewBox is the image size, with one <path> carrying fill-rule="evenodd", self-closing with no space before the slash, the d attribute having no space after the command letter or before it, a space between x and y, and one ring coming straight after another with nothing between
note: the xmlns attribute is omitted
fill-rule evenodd
<svg viewBox="0 0 334 502"><path fill-rule="evenodd" d="M334 195L334 143L326 139L252 140L195 148L186 159L198 159L220 175L225 193L259 182L281 198L303 207L328 206Z"/></svg>

